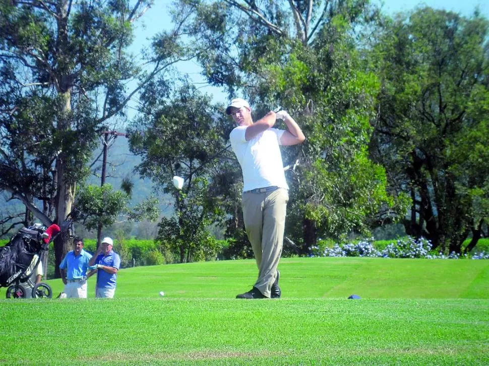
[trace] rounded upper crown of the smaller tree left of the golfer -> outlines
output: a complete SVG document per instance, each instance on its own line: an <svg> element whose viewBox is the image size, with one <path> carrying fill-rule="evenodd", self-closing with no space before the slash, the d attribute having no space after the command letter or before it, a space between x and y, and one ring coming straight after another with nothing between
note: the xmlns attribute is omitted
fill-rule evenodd
<svg viewBox="0 0 489 366"><path fill-rule="evenodd" d="M138 171L157 183L164 193L176 192L170 184L173 176L206 176L215 168L216 155L225 147L225 124L217 107L186 81L172 95L160 85L150 84L142 96L142 115L128 128L131 152L140 155ZM168 98L171 97L170 100ZM198 174L195 172L198 169Z"/></svg>

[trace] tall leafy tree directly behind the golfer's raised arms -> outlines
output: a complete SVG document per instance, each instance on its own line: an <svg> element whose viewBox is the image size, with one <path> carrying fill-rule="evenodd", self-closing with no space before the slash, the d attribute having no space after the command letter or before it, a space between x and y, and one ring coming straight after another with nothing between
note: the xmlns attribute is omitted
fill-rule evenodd
<svg viewBox="0 0 489 366"><path fill-rule="evenodd" d="M383 168L368 157L380 84L365 70L359 45L380 19L375 7L181 0L178 9L187 10L186 31L210 84L229 97L246 96L255 117L281 105L304 130L306 143L284 151L291 186L286 235L298 252L319 237L366 231L394 209L402 212L406 199L396 206Z"/></svg>

